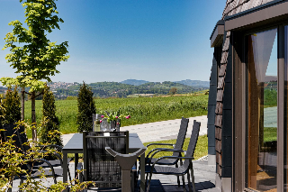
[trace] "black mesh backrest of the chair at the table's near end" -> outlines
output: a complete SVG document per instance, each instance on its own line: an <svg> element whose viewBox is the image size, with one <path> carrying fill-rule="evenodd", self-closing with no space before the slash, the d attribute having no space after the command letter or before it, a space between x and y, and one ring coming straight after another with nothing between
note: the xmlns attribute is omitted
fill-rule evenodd
<svg viewBox="0 0 288 192"><path fill-rule="evenodd" d="M84 179L95 187L121 187L121 167L105 147L127 154L129 132L83 132Z"/></svg>

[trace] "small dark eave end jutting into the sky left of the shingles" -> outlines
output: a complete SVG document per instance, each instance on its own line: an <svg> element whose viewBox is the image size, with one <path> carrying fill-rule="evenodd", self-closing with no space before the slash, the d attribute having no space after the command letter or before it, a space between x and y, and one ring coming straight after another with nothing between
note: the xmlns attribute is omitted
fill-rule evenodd
<svg viewBox="0 0 288 192"><path fill-rule="evenodd" d="M211 47L220 47L223 43L224 21L220 20L216 23L214 30L210 36Z"/></svg>

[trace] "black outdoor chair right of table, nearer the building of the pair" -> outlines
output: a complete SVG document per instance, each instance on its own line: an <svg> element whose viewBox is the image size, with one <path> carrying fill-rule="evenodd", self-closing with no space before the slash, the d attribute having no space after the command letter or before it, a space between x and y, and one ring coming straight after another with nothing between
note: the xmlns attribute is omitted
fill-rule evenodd
<svg viewBox="0 0 288 192"><path fill-rule="evenodd" d="M192 160L194 159L193 158L193 153L194 153L194 150L195 150L195 147L196 147L196 143L198 141L200 125L201 125L201 123L196 122L194 120L194 122L193 122L193 130L192 130L192 133L191 133L191 139L190 139L187 151L175 150L175 149L163 149L163 150L161 150L161 151L177 151L177 152L180 152L180 153L184 152L185 153L184 157L164 156L164 157L161 157L161 158L157 159L151 166L148 165L148 166L145 167L145 173L147 174L146 183L147 183L147 180L148 180L148 174L150 174L149 175L149 180L148 180L148 190L149 190L149 187L150 187L152 174L164 174L164 175L182 176L183 188L184 188L184 191L186 191L185 183L184 183L184 175L187 174L189 191L192 191L190 173L189 173L189 169L190 169L191 176L192 176L193 192L196 191L195 190L194 177L193 177L193 162L192 162ZM157 162L160 161L160 160L164 160L164 159L180 160L180 167L174 168L174 167L171 167L171 166L157 166ZM182 163L183 159L184 159L184 163Z"/></svg>

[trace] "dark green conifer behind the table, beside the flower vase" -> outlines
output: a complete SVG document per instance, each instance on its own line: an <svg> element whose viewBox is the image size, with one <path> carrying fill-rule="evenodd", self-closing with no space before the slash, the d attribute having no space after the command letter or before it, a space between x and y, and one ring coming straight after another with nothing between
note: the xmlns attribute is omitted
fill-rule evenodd
<svg viewBox="0 0 288 192"><path fill-rule="evenodd" d="M77 102L78 114L76 123L78 126L78 132L82 133L83 131L92 131L92 114L96 113L96 108L91 87L88 87L85 83L80 87Z"/></svg>

